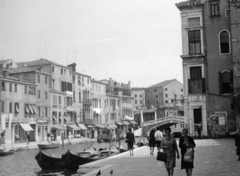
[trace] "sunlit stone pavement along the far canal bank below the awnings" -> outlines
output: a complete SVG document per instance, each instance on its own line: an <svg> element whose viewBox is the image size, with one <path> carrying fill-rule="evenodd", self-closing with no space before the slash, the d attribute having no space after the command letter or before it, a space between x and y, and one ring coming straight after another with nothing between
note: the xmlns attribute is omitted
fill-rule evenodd
<svg viewBox="0 0 240 176"><path fill-rule="evenodd" d="M95 142L97 141L96 139L88 139L88 138L74 138L74 139L70 139L71 144L80 144L80 143L87 143L87 142ZM52 141L52 142L58 142L60 143L60 145L62 145L62 140L58 140L58 141ZM21 149L35 149L38 148L38 144L48 144L48 141L41 141L39 142L30 142L28 147L27 147L27 143L15 143L13 144L13 149L14 150L21 150ZM67 139L64 140L64 145L69 145L69 141ZM7 143L5 144L5 147L7 149L12 149L12 144L11 143Z"/></svg>

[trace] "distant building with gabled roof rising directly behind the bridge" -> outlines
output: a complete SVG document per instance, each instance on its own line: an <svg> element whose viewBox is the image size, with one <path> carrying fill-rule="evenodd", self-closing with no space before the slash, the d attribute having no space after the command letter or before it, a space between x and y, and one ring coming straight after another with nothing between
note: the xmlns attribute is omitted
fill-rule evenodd
<svg viewBox="0 0 240 176"><path fill-rule="evenodd" d="M163 105L179 104L183 98L183 84L178 80L166 80L145 89L148 109Z"/></svg>

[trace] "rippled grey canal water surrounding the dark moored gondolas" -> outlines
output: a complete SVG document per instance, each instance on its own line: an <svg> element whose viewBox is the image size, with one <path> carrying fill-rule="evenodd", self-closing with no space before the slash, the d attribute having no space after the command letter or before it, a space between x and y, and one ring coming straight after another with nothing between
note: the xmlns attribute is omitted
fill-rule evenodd
<svg viewBox="0 0 240 176"><path fill-rule="evenodd" d="M51 154L52 156L61 156L66 153L69 149L72 152L83 151L84 148L93 146L97 149L99 148L109 148L109 143L97 143L97 142L88 142L85 144L74 144L67 145L64 148L60 147L58 149L48 149L44 150L44 153ZM118 146L119 142L115 142ZM126 147L124 140L121 141L123 148ZM31 150L22 150L16 151L14 155L9 155L5 157L0 157L0 176L39 176L43 172L38 166L35 156L38 154L38 149ZM46 173L46 172L44 172ZM53 173L53 171L48 171L48 173ZM62 172L63 175L68 176L72 173L67 173L66 171Z"/></svg>

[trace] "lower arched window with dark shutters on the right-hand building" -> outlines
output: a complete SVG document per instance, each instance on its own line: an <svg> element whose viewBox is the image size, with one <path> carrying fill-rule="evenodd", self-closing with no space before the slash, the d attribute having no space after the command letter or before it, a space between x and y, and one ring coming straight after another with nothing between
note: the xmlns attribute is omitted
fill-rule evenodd
<svg viewBox="0 0 240 176"><path fill-rule="evenodd" d="M230 71L223 71L219 73L220 94L233 93L233 73Z"/></svg>

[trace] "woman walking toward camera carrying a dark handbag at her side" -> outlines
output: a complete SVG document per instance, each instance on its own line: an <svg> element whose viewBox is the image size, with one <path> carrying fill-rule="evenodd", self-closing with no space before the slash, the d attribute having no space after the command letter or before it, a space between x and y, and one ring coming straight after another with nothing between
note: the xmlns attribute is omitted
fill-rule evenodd
<svg viewBox="0 0 240 176"><path fill-rule="evenodd" d="M165 162L165 167L168 172L168 176L173 176L174 167L176 167L176 154L177 159L179 159L179 151L177 142L171 135L171 128L165 129L166 136L163 137L160 148L167 153L167 160Z"/></svg>

